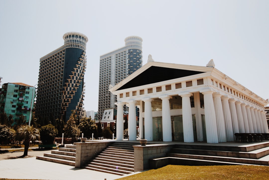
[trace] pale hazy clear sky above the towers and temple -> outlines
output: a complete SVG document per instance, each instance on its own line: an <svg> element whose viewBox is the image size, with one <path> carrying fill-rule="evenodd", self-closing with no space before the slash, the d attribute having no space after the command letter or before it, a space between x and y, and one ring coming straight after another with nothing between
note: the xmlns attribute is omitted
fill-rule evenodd
<svg viewBox="0 0 269 180"><path fill-rule="evenodd" d="M269 98L269 1L265 0L0 0L1 84L38 82L39 60L88 37L84 109L98 110L100 55L143 39L143 65L154 61L215 68Z"/></svg>

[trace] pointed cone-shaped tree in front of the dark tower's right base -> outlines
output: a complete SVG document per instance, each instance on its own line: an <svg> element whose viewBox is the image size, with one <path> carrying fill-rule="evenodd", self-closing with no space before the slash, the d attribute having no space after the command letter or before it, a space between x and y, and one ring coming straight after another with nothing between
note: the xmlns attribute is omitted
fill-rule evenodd
<svg viewBox="0 0 269 180"><path fill-rule="evenodd" d="M75 142L75 139L80 135L80 129L76 125L76 116L75 111L72 111L69 120L66 122L64 127L65 137L72 138L72 142Z"/></svg>

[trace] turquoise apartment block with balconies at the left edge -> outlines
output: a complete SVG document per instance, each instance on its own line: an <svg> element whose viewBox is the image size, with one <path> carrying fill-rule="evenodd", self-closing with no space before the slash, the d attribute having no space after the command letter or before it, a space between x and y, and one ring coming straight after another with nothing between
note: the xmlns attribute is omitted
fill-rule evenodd
<svg viewBox="0 0 269 180"><path fill-rule="evenodd" d="M3 84L0 91L0 112L5 112L7 116L12 115L15 124L20 116L29 122L35 92L35 87L21 82Z"/></svg>

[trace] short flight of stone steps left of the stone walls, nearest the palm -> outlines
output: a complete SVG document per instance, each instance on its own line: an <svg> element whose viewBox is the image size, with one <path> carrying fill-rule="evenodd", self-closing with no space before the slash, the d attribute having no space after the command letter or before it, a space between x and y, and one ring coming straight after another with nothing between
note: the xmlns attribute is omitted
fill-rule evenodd
<svg viewBox="0 0 269 180"><path fill-rule="evenodd" d="M66 145L66 147L59 148L58 150L51 150L51 153L37 156L36 159L75 166L76 146Z"/></svg>

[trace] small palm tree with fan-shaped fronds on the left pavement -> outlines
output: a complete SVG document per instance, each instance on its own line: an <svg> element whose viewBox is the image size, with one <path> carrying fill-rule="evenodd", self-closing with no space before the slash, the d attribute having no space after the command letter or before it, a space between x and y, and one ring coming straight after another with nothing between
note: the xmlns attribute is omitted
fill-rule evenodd
<svg viewBox="0 0 269 180"><path fill-rule="evenodd" d="M24 140L23 157L28 155L30 141L40 140L39 130L34 126L22 125L17 129L19 136Z"/></svg>

